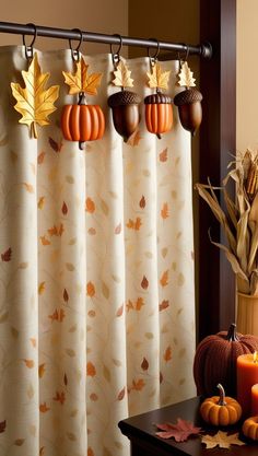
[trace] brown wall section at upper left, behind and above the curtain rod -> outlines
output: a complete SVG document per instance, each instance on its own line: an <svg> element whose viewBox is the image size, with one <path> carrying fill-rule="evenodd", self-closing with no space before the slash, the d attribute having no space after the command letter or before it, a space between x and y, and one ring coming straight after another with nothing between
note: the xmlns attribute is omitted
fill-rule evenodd
<svg viewBox="0 0 258 456"><path fill-rule="evenodd" d="M34 22L38 25L60 28L81 28L89 32L99 32L120 35L128 34L128 0L9 0L1 4L1 21L26 24ZM31 43L27 36L26 43ZM0 46L21 44L20 35L0 34ZM38 37L36 47L39 49L67 48L68 42ZM84 43L84 54L109 52L108 45Z"/></svg>

